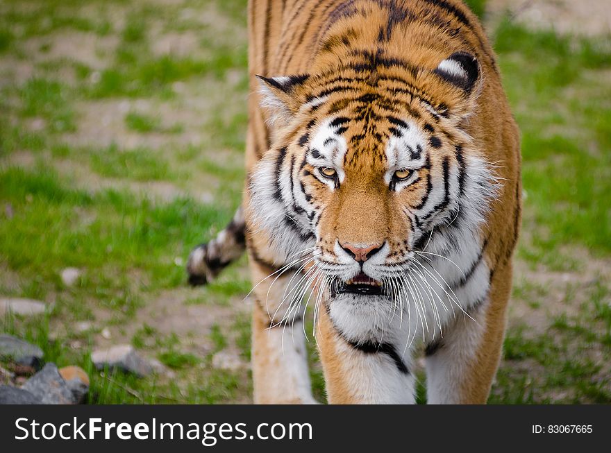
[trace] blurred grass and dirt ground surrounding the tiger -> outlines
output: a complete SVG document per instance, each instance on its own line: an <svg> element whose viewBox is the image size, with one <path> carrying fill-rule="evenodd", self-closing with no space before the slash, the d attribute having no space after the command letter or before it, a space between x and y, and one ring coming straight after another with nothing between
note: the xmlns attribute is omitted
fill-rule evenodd
<svg viewBox="0 0 611 453"><path fill-rule="evenodd" d="M468 3L524 158L489 402L609 403L611 3ZM240 203L246 53L246 0L0 1L0 384L52 363L91 404L251 402L246 259L184 270Z"/></svg>

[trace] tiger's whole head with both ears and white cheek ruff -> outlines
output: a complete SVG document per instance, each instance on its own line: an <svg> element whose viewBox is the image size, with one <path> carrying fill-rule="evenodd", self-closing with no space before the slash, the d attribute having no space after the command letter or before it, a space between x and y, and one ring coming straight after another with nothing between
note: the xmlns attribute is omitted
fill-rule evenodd
<svg viewBox="0 0 611 453"><path fill-rule="evenodd" d="M332 303L352 305L392 300L397 275L424 273L419 259L477 241L494 194L469 135L476 58L355 58L376 67L260 77L273 137L249 176L253 229L287 262L311 253Z"/></svg>

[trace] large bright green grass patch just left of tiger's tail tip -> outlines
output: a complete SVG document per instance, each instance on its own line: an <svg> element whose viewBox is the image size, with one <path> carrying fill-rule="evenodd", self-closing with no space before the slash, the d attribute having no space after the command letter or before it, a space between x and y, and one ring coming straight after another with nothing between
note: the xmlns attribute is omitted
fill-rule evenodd
<svg viewBox="0 0 611 453"><path fill-rule="evenodd" d="M175 287L183 283L184 271L172 259L230 214L189 198L159 205L127 192L91 195L66 187L43 168L0 171L0 202L15 211L0 223L3 259L24 276L40 275L49 282L62 264L69 264L92 271L112 268L118 281L137 269L154 287ZM81 221L85 218L90 221ZM92 276L92 286L104 278L103 273Z"/></svg>

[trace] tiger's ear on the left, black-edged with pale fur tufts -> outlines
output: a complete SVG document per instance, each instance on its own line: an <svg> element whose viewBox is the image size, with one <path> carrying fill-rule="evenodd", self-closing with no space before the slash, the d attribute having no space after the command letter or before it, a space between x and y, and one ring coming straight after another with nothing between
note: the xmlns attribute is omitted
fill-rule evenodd
<svg viewBox="0 0 611 453"><path fill-rule="evenodd" d="M301 107L298 91L308 80L308 74L299 76L263 77L256 76L259 80L261 96L261 107L269 114L269 123L287 123Z"/></svg>

